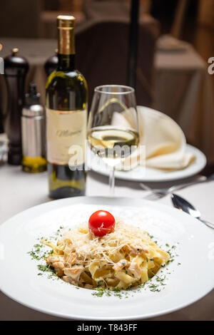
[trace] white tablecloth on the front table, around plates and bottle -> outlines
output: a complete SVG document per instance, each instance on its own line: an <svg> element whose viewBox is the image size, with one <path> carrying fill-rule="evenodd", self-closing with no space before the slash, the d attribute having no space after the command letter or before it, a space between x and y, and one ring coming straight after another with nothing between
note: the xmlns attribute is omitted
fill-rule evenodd
<svg viewBox="0 0 214 335"><path fill-rule="evenodd" d="M31 175L21 172L20 167L0 166L0 225L12 215L43 202L50 201L46 172ZM168 184L169 185L169 184ZM163 186L168 186L163 185ZM153 185L157 187L158 185ZM188 187L178 192L193 202L203 217L214 222L214 182ZM143 198L147 194L138 182L116 180L116 196ZM87 195L109 195L108 178L88 172ZM171 206L170 197L159 202ZM213 264L214 265L214 264ZM205 275L208 275L209 272ZM0 293L0 320L60 320L41 314L12 301ZM214 290L195 304L154 320L212 320L214 321Z"/></svg>

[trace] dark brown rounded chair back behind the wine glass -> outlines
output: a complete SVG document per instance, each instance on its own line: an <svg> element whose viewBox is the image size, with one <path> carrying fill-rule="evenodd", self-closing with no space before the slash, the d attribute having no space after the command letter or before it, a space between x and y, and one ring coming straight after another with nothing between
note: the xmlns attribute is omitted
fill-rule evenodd
<svg viewBox="0 0 214 335"><path fill-rule="evenodd" d="M138 105L153 100L153 58L159 26L141 20L138 35L136 96ZM99 85L127 83L128 19L97 19L76 28L76 67L88 81L89 105Z"/></svg>

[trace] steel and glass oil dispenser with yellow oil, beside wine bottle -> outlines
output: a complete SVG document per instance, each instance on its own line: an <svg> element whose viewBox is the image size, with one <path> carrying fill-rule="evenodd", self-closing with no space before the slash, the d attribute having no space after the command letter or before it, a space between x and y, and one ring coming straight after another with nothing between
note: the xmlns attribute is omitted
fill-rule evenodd
<svg viewBox="0 0 214 335"><path fill-rule="evenodd" d="M45 110L40 105L36 84L30 83L26 105L21 113L22 170L43 172L46 170Z"/></svg>

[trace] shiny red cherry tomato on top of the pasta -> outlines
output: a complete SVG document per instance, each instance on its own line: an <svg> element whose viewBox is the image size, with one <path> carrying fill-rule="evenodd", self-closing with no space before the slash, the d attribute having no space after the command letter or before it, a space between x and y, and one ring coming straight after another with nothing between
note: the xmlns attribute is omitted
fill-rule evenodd
<svg viewBox="0 0 214 335"><path fill-rule="evenodd" d="M102 237L114 231L115 218L106 210L97 210L88 220L88 228L95 236Z"/></svg>

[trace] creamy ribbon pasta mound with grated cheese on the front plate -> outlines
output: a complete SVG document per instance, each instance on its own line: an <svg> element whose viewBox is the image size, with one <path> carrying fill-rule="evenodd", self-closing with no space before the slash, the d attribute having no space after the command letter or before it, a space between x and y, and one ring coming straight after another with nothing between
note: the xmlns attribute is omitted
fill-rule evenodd
<svg viewBox="0 0 214 335"><path fill-rule="evenodd" d="M101 225L80 225L65 232L56 244L48 239L41 242L52 248L46 263L57 276L86 289L137 287L170 259L146 232L120 219L113 225L105 220Z"/></svg>

